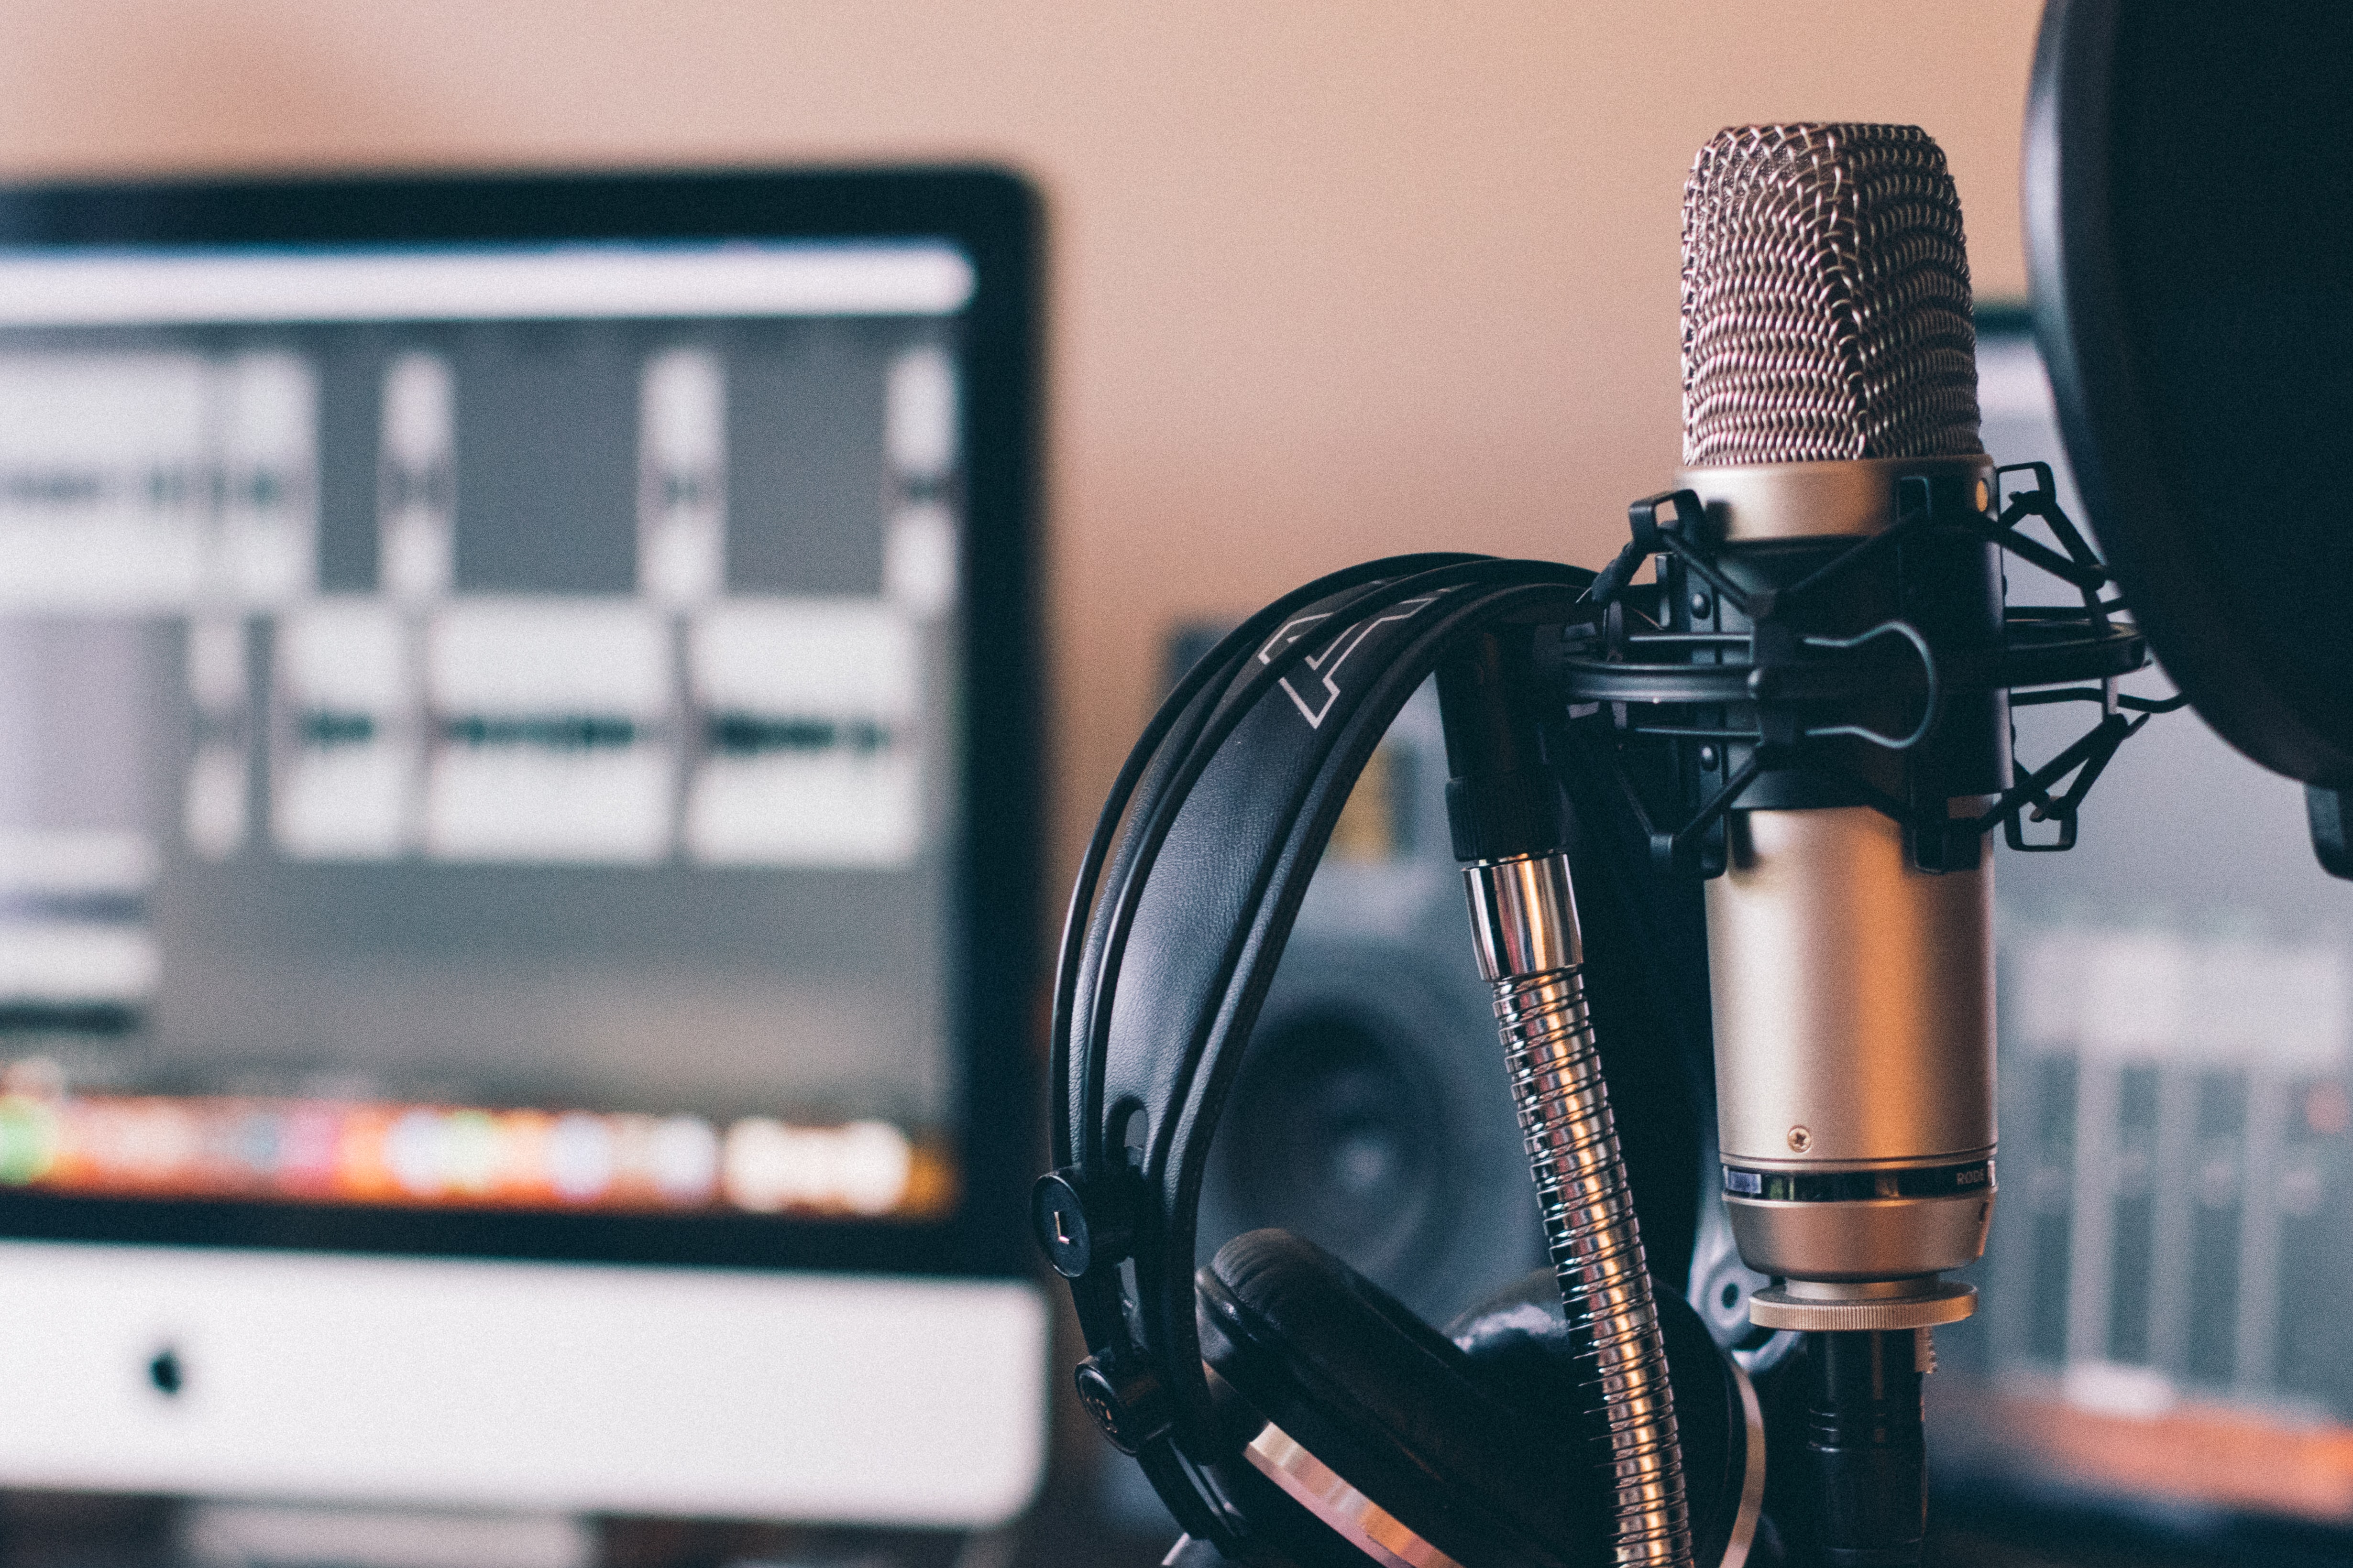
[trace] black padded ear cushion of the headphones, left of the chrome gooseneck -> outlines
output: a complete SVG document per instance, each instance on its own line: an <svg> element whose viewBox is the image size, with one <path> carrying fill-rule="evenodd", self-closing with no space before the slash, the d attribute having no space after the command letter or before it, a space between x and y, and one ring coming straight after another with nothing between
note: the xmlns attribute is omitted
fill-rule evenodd
<svg viewBox="0 0 2353 1568"><path fill-rule="evenodd" d="M1577 1568L1609 1500L1558 1425L1348 1265L1280 1229L1198 1276L1209 1366L1266 1420L1457 1561Z"/></svg>

